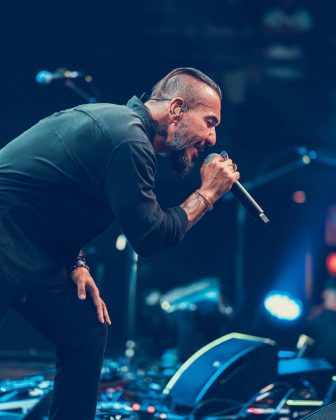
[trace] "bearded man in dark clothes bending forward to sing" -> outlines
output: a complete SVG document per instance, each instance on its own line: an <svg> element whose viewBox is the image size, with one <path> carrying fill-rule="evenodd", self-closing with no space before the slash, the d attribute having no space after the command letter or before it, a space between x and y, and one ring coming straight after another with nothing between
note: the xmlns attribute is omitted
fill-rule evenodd
<svg viewBox="0 0 336 420"><path fill-rule="evenodd" d="M113 222L141 256L182 241L239 173L212 154L199 188L163 210L155 154L190 171L216 143L220 108L217 84L178 68L145 103L56 112L0 151L0 319L14 307L56 346L51 419L95 416L110 319L81 248Z"/></svg>

